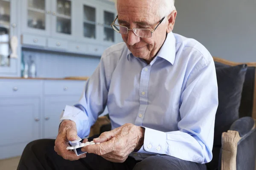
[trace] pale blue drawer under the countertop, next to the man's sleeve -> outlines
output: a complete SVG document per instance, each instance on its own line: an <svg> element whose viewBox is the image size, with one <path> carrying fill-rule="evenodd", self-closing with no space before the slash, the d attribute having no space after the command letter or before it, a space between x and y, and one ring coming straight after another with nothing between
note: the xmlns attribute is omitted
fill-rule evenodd
<svg viewBox="0 0 256 170"><path fill-rule="evenodd" d="M49 80L44 82L45 95L81 95L84 91L85 81Z"/></svg>

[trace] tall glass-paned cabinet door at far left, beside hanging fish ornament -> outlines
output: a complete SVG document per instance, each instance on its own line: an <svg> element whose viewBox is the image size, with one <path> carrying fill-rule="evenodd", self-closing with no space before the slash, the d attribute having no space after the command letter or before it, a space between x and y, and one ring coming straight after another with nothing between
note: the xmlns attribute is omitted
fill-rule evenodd
<svg viewBox="0 0 256 170"><path fill-rule="evenodd" d="M0 0L0 74L18 76L18 59L9 58L12 36L17 36L17 1ZM17 49L16 49L17 50ZM18 55L19 56L19 55Z"/></svg>

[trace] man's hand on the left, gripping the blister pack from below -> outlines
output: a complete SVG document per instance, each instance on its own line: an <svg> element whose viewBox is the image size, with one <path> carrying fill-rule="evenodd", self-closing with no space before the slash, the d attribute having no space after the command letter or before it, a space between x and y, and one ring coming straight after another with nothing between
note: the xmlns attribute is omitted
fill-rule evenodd
<svg viewBox="0 0 256 170"><path fill-rule="evenodd" d="M69 145L69 141L77 139L76 123L72 120L64 120L61 122L61 125L58 130L58 136L55 140L54 150L58 153L59 156L62 156L64 159L70 161L75 161L80 158L85 158L86 154L76 156L76 153L73 150L67 150L66 148ZM86 140L83 141L87 142Z"/></svg>

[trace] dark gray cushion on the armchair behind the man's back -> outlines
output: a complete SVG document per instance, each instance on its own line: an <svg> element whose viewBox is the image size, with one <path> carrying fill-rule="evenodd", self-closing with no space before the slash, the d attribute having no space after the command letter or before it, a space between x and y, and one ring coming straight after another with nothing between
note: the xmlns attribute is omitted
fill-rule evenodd
<svg viewBox="0 0 256 170"><path fill-rule="evenodd" d="M241 92L247 65L217 65L218 109L215 118L214 146L221 146L221 134L230 129L233 122L239 119Z"/></svg>

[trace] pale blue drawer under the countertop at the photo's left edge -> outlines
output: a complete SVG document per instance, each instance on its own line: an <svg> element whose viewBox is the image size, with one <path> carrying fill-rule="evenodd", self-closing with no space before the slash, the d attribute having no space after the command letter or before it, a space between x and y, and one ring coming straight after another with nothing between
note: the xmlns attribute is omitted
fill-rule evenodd
<svg viewBox="0 0 256 170"><path fill-rule="evenodd" d="M38 80L0 80L0 96L40 96L41 81Z"/></svg>

